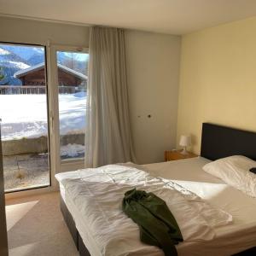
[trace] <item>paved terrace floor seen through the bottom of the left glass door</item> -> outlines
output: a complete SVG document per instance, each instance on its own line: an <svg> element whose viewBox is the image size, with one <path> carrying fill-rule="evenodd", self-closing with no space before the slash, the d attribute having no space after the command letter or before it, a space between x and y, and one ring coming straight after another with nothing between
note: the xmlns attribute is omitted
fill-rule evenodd
<svg viewBox="0 0 256 256"><path fill-rule="evenodd" d="M48 154L3 156L3 176L5 191L49 185Z"/></svg>

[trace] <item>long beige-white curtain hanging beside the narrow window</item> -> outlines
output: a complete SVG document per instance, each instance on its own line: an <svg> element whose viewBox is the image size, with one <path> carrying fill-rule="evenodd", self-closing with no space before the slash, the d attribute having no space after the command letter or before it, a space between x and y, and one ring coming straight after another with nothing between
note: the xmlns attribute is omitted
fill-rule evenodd
<svg viewBox="0 0 256 256"><path fill-rule="evenodd" d="M85 167L134 160L128 110L125 34L91 27Z"/></svg>

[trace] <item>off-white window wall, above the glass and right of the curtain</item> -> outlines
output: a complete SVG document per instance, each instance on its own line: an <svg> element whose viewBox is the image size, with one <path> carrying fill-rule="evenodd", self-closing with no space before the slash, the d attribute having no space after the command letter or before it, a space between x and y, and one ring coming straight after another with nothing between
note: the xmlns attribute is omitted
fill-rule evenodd
<svg viewBox="0 0 256 256"><path fill-rule="evenodd" d="M132 30L125 37L137 160L161 161L164 151L175 147L180 38ZM88 47L89 27L0 17L0 42L46 44L48 39Z"/></svg>

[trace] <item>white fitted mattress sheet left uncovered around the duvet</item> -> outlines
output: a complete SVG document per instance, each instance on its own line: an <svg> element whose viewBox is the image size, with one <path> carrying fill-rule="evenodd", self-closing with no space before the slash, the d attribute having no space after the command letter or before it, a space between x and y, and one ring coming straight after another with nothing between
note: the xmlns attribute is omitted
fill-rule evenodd
<svg viewBox="0 0 256 256"><path fill-rule="evenodd" d="M177 246L178 255L230 255L256 245L256 201L240 191L230 188L223 181L202 171L209 160L201 157L145 165L152 176L171 179L186 189L200 195L212 206L230 212L233 224L216 229L212 241L182 242ZM74 172L63 173L72 177ZM72 213L77 229L92 256L101 255L96 241L91 236L82 216L61 186L61 196ZM234 198L236 201L234 201ZM162 254L160 254L162 255Z"/></svg>

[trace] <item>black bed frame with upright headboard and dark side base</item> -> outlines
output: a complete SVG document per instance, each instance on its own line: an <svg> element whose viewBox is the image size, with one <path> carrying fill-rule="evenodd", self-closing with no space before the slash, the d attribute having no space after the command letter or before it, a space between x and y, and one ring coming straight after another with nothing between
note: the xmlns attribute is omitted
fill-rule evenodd
<svg viewBox="0 0 256 256"><path fill-rule="evenodd" d="M218 160L234 154L245 155L256 160L256 132L242 131L234 128L202 124L201 156L209 160ZM79 235L71 213L68 211L65 202L61 197L61 212L67 224L67 228L73 237L73 241L80 256L91 256L84 242ZM256 255L256 247L252 247L234 256Z"/></svg>

